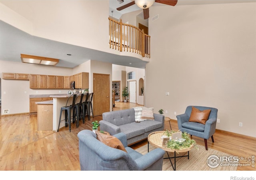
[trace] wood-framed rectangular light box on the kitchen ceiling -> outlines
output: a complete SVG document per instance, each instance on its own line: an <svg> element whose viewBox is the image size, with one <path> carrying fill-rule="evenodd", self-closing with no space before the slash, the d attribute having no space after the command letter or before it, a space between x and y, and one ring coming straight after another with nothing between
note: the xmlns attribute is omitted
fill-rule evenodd
<svg viewBox="0 0 256 180"><path fill-rule="evenodd" d="M32 56L28 54L20 54L21 61L30 64L43 64L49 66L55 66L59 60L54 58L46 58L41 56Z"/></svg>

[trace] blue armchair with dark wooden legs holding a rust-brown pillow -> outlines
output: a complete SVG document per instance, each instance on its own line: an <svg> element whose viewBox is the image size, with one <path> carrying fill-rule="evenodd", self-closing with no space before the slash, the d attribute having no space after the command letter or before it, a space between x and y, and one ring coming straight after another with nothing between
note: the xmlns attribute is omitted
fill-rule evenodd
<svg viewBox="0 0 256 180"><path fill-rule="evenodd" d="M204 107L204 106L194 106L195 108L199 109L200 111L210 109L210 115L208 120L205 124L201 124L198 122L189 122L190 114L192 111L192 106L188 106L184 114L177 115L178 121L178 128L182 132L187 132L191 136L197 136L204 139L205 149L207 148L207 140L211 137L212 142L214 142L213 134L215 133L216 129L216 122L217 122L217 112L218 109Z"/></svg>

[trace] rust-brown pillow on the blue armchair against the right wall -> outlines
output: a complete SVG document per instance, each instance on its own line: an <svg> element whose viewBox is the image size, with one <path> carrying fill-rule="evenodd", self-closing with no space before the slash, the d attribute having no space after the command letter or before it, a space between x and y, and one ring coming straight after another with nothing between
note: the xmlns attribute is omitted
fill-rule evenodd
<svg viewBox="0 0 256 180"><path fill-rule="evenodd" d="M191 115L190 115L190 118L188 121L189 122L199 122L201 124L205 124L209 118L210 112L211 112L210 109L200 111L199 109L192 106Z"/></svg>

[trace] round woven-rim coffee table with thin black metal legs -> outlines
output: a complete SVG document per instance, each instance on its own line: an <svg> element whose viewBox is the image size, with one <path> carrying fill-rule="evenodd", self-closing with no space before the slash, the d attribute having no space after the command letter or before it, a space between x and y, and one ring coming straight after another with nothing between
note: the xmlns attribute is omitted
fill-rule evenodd
<svg viewBox="0 0 256 180"><path fill-rule="evenodd" d="M155 148L161 148L162 150L165 150L168 155L168 158L164 158L164 159L169 159L172 164L171 158L174 158L174 166L172 164L172 168L173 170L176 170L176 158L188 157L189 159L189 151L193 148L193 144L191 144L189 148L183 148L183 149L172 149L172 148L163 147L161 136L164 134L164 132L165 131L156 131L148 134L148 151L149 151L149 144L151 144ZM168 152L174 152L174 157L170 157ZM176 156L176 152L177 153L188 152L188 155Z"/></svg>

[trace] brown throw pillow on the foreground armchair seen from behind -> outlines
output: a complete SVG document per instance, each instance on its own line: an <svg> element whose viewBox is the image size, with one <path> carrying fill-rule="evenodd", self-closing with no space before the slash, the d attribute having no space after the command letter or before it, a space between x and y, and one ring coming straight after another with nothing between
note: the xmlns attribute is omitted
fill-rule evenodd
<svg viewBox="0 0 256 180"><path fill-rule="evenodd" d="M124 148L124 145L118 138L108 134L101 133L97 130L95 131L95 133L97 135L97 139L100 142L103 142L104 144L106 144L107 146L110 146L111 148L116 148L116 149L123 150L124 152L127 152L126 149Z"/></svg>

